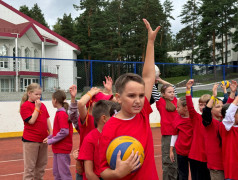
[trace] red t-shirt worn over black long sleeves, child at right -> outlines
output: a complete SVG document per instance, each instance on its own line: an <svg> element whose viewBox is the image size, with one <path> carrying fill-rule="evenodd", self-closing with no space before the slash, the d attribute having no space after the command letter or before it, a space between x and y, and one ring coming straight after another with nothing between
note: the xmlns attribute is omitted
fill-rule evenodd
<svg viewBox="0 0 238 180"><path fill-rule="evenodd" d="M205 127L205 150L207 155L207 168L223 170L221 140L219 138L219 125L221 122L212 118L210 125Z"/></svg>

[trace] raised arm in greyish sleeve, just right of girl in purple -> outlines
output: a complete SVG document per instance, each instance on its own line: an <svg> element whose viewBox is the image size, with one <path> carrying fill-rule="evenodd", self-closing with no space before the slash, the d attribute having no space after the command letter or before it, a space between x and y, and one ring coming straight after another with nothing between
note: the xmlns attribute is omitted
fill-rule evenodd
<svg viewBox="0 0 238 180"><path fill-rule="evenodd" d="M79 119L79 113L78 113L78 107L77 107L77 101L76 101L76 94L77 94L77 86L72 85L69 88L71 101L69 105L69 119L73 123L75 129L79 129L78 127L78 119Z"/></svg>

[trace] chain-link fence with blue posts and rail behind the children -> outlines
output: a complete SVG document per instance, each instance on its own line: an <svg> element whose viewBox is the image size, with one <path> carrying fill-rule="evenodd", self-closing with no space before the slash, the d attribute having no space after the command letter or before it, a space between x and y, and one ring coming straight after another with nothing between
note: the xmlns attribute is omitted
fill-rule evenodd
<svg viewBox="0 0 238 180"><path fill-rule="evenodd" d="M237 65L156 65L160 68L160 77L175 84L178 93L185 92L185 84L191 78L195 79L193 91L211 90L212 83L238 79ZM105 76L111 76L115 82L123 73L141 75L142 68L142 62L0 56L0 100L19 100L22 92L34 82L41 84L43 99L50 99L56 89L68 92L72 84L82 93L92 86L103 87Z"/></svg>

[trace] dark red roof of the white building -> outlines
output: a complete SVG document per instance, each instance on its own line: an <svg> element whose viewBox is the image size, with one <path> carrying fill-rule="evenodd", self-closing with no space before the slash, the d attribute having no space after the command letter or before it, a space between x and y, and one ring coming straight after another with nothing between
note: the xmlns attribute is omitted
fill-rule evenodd
<svg viewBox="0 0 238 180"><path fill-rule="evenodd" d="M2 4L4 7L8 8L9 10L17 13L19 16L26 19L28 22L26 23L20 23L20 24L13 24L11 22L8 22L4 19L0 19L0 37L7 37L7 38L13 38L13 37L22 37L24 34L27 34L27 36L30 38L30 40L34 43L41 43L45 42L46 45L57 45L58 42L46 37L46 35L42 35L36 28L36 26L40 27L41 29L45 30L46 32L50 33L51 35L57 37L61 41L67 43L68 45L72 46L76 50L80 51L80 48L78 45L72 43L68 39L60 36L56 32L50 30L49 28L43 26L39 22L35 21L34 19L30 18L29 16L25 15L24 13L18 11L17 9L13 8L12 6L8 5L7 3L0 0L0 4ZM35 26L36 25L36 26Z"/></svg>

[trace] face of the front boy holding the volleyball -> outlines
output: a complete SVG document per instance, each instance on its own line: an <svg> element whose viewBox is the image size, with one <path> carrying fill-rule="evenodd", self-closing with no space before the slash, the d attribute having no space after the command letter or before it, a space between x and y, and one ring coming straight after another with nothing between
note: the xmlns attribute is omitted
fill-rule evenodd
<svg viewBox="0 0 238 180"><path fill-rule="evenodd" d="M145 102L145 86L135 81L129 81L121 94L117 94L121 112L128 118L138 114Z"/></svg>

